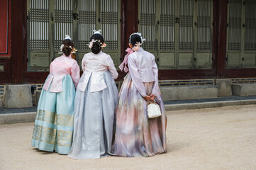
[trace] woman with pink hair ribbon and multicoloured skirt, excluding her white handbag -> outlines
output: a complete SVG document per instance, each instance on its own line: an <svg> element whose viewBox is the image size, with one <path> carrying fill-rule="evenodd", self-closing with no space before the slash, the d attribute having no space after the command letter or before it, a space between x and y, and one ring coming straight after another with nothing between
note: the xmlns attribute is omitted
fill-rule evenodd
<svg viewBox="0 0 256 170"><path fill-rule="evenodd" d="M130 48L120 69L128 72L116 108L116 137L112 153L122 157L152 157L167 152L167 116L158 86L155 56L143 50L140 33L130 35ZM127 65L128 64L128 67ZM148 118L147 101L154 100L162 115Z"/></svg>

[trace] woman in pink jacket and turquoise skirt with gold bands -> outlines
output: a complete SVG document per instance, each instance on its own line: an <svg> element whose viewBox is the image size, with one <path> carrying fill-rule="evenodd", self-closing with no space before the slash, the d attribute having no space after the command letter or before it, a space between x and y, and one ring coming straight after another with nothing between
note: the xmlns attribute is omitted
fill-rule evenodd
<svg viewBox="0 0 256 170"><path fill-rule="evenodd" d="M50 64L50 74L40 94L31 145L48 152L68 154L80 69L70 55L74 44L68 35L60 48L64 54Z"/></svg>

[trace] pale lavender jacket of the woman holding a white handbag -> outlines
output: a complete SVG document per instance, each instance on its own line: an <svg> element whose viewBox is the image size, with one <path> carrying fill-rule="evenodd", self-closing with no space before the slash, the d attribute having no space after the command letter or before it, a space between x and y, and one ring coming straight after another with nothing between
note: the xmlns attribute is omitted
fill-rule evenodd
<svg viewBox="0 0 256 170"><path fill-rule="evenodd" d="M140 95L145 97L146 90L143 82L153 82L152 93L159 96L158 69L155 56L146 52L142 47L128 56L128 67L133 84Z"/></svg>

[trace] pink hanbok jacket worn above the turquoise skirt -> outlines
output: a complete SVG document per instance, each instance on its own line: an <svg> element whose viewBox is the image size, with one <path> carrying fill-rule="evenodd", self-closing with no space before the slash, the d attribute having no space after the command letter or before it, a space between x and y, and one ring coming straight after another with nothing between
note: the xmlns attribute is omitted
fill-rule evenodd
<svg viewBox="0 0 256 170"><path fill-rule="evenodd" d="M77 84L80 79L80 68L76 60L73 60L71 55L62 55L57 57L50 64L50 74L45 81L43 89L50 92L61 92L62 91L62 79L66 75L70 75L74 82L74 87L77 89Z"/></svg>

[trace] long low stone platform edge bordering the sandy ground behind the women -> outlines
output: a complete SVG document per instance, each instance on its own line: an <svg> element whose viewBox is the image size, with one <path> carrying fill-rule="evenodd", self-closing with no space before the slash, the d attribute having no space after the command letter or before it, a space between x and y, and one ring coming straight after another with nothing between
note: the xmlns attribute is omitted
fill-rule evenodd
<svg viewBox="0 0 256 170"><path fill-rule="evenodd" d="M165 111L191 110L200 108L218 108L223 106L240 106L256 104L256 99L238 101L212 101L201 103L166 104ZM11 123L30 123L35 121L35 112L0 114L0 125Z"/></svg>

